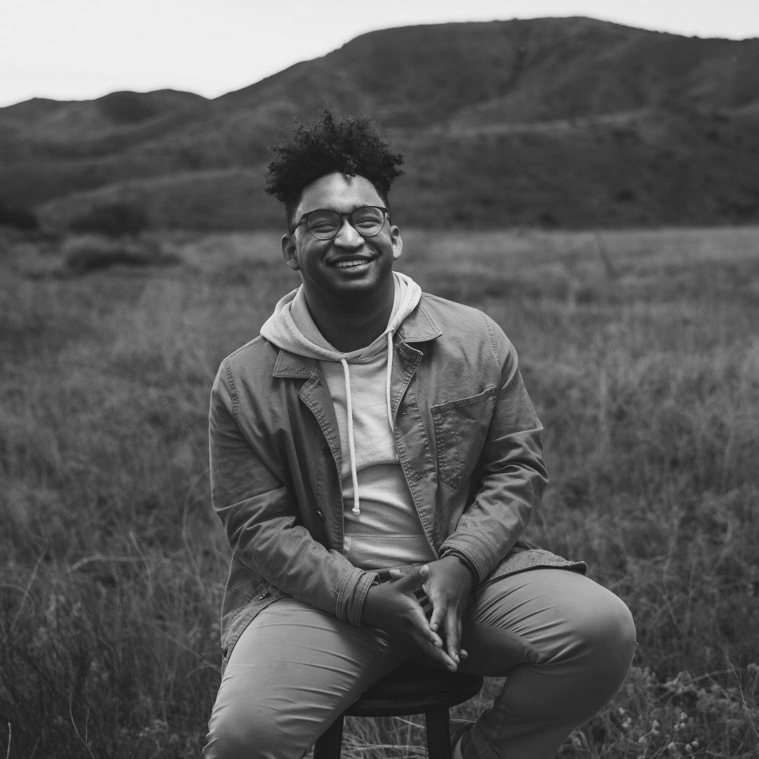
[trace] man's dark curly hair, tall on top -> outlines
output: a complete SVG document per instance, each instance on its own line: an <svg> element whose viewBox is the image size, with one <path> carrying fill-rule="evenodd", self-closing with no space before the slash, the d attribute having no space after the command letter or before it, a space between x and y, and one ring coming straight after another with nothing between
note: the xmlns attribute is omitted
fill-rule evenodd
<svg viewBox="0 0 759 759"><path fill-rule="evenodd" d="M343 116L339 121L329 108L322 118L310 123L295 121L289 140L280 140L270 150L274 160L266 172L266 192L285 203L288 228L304 187L320 177L340 172L367 178L386 206L392 181L402 175L401 153L392 153L369 116Z"/></svg>

